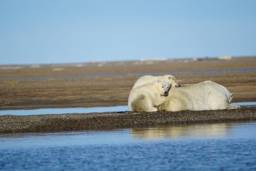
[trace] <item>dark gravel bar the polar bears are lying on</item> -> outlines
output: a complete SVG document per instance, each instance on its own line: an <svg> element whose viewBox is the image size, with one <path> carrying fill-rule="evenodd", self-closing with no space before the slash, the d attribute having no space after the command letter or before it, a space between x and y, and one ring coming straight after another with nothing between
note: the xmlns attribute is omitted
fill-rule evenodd
<svg viewBox="0 0 256 171"><path fill-rule="evenodd" d="M241 109L208 111L2 115L0 133L79 131L229 121L256 121L256 105L243 105Z"/></svg>

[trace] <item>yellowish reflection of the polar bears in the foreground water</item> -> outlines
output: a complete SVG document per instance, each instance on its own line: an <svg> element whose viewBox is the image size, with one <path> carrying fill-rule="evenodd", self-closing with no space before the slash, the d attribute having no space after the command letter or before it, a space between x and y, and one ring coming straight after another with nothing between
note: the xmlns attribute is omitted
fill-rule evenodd
<svg viewBox="0 0 256 171"><path fill-rule="evenodd" d="M221 138L232 129L232 123L207 123L193 125L163 126L150 128L131 128L134 139L181 138L197 136L200 138Z"/></svg>

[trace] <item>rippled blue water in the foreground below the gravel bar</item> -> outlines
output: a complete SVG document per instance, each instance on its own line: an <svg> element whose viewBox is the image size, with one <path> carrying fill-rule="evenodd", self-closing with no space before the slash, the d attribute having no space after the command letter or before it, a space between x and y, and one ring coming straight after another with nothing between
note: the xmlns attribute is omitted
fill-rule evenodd
<svg viewBox="0 0 256 171"><path fill-rule="evenodd" d="M256 170L256 122L0 135L0 170Z"/></svg>

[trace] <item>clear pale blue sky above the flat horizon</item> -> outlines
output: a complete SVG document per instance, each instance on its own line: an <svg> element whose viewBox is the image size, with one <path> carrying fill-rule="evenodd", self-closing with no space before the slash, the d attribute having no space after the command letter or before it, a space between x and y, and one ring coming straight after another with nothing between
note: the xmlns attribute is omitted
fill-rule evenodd
<svg viewBox="0 0 256 171"><path fill-rule="evenodd" d="M256 0L0 0L0 64L256 55Z"/></svg>

